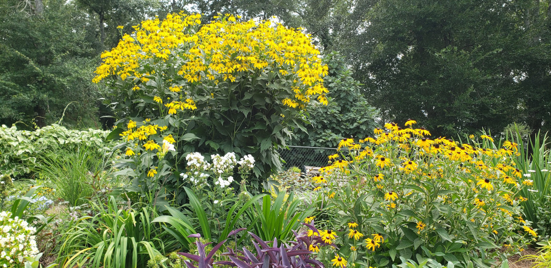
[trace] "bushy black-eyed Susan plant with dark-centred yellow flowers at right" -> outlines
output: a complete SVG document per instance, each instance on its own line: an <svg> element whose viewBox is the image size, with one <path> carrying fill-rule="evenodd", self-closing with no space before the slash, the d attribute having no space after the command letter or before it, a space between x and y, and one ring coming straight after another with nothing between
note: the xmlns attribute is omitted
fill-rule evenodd
<svg viewBox="0 0 551 268"><path fill-rule="evenodd" d="M431 138L414 124L342 140L312 178L323 204L318 222L343 230L334 241L340 250L320 251L326 263L337 254L365 267L402 258L488 267L537 236L522 217L519 192L532 185L515 165L516 143Z"/></svg>

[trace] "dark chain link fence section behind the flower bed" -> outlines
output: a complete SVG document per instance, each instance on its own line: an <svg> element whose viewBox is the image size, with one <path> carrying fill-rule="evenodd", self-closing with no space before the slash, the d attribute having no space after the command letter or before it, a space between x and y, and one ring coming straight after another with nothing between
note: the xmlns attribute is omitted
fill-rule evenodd
<svg viewBox="0 0 551 268"><path fill-rule="evenodd" d="M300 168L304 173L304 167L325 167L328 165L328 157L337 153L337 148L288 146L289 149L280 149L284 170L291 167Z"/></svg>

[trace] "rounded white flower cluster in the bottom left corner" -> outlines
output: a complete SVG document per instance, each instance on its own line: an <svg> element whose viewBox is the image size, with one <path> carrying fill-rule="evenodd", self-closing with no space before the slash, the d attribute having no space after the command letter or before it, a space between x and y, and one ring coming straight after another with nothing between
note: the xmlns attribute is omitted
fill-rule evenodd
<svg viewBox="0 0 551 268"><path fill-rule="evenodd" d="M25 257L35 258L39 254L36 248L34 227L15 217L12 213L0 212L0 266L13 267L23 264Z"/></svg>

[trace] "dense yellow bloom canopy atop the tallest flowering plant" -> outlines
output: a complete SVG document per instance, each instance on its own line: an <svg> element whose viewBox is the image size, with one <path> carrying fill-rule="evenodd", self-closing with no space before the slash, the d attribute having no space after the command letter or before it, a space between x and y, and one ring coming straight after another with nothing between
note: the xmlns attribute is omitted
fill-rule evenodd
<svg viewBox="0 0 551 268"><path fill-rule="evenodd" d="M166 62L175 58L177 77L169 83L186 81L239 81L251 73L276 73L282 79L293 81L294 98L282 100L291 108L304 108L312 98L327 104L327 89L323 76L328 73L318 57L319 51L310 42L310 36L300 29L288 29L269 21L236 22L233 15L201 24L201 15L168 14L166 19L145 20L134 26L133 34L124 35L111 51L101 54L104 62L95 73L93 82L116 75L133 90L145 88L150 77L145 62ZM147 60L147 61L146 61ZM170 85L171 92L180 92L181 85ZM155 99L161 102L162 99ZM174 103L174 102L173 102ZM186 109L195 109L188 103ZM174 104L177 105L177 104ZM169 108L170 109L170 108ZM177 108L176 108L177 109ZM170 109L171 113L175 110Z"/></svg>

